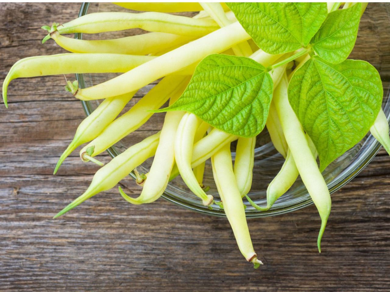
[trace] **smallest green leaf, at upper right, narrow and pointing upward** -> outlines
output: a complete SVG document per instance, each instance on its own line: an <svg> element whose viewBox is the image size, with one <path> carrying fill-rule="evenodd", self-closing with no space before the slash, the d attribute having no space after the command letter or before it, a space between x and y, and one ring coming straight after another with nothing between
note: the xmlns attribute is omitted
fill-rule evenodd
<svg viewBox="0 0 390 292"><path fill-rule="evenodd" d="M314 51L325 61L338 64L346 60L355 46L362 4L328 14L311 40Z"/></svg>

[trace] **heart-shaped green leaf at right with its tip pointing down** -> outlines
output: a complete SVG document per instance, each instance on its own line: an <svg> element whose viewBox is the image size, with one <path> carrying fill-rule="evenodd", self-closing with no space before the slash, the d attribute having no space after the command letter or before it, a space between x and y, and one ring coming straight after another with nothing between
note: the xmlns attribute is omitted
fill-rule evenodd
<svg viewBox="0 0 390 292"><path fill-rule="evenodd" d="M288 95L323 171L367 134L381 108L383 88L370 63L331 64L314 56L294 73Z"/></svg>

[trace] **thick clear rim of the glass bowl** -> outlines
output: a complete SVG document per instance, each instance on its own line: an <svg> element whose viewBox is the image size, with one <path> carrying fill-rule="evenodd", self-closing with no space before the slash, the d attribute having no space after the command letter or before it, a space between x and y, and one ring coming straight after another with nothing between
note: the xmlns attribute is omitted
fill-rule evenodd
<svg viewBox="0 0 390 292"><path fill-rule="evenodd" d="M89 2L82 3L78 17L87 14L89 4L90 4ZM75 39L81 39L82 33L75 33L74 37ZM85 81L83 79L83 74L76 74L76 79L79 83L80 88L86 87ZM89 116L93 111L90 103L84 100L81 100L81 102L85 114ZM387 102L384 110L388 109L389 107L390 107L390 102ZM390 115L389 117L387 117L387 120L388 121L390 120ZM372 137L371 134L367 139L369 139L370 137ZM365 149L363 153L360 153L358 158L352 164L350 164L347 168L341 171L335 179L333 179L330 183L328 183L328 188L331 194L336 192L340 188L342 188L342 186L346 185L349 181L351 181L351 179L355 178L355 176L358 175L364 169L364 167L366 167L371 162L371 160L375 157L375 155L378 153L378 151L381 148L381 144L378 141L376 141L376 139L373 139L372 141L373 142L371 142L371 144L368 145L367 149ZM108 148L107 152L112 158L120 154L113 146ZM135 179L135 175L133 173L130 173L130 175L133 179ZM174 195L174 193L171 193L167 190L163 193L163 195L161 195L161 197L163 197L166 201L176 204L177 206L190 209L197 213L202 213L211 216L218 216L218 217L226 217L225 212L220 209L210 210L206 207L201 208L201 206L191 205L189 202L178 198L177 196ZM305 208L307 206L310 206L312 204L313 204L312 199L310 199L310 196L307 196L306 199L299 201L296 204L288 205L285 206L284 208L269 209L267 213L255 210L251 212L246 212L245 214L246 214L246 218L276 216L276 215L293 212Z"/></svg>

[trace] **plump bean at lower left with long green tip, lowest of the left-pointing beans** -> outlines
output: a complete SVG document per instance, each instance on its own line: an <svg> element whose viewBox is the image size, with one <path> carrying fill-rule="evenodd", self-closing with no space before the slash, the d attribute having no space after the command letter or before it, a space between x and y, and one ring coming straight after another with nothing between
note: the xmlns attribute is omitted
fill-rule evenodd
<svg viewBox="0 0 390 292"><path fill-rule="evenodd" d="M94 175L87 190L68 206L57 213L57 218L97 193L113 188L121 179L125 178L133 169L142 164L156 152L160 132L147 137L141 142L131 146L113 158L108 164L99 169Z"/></svg>

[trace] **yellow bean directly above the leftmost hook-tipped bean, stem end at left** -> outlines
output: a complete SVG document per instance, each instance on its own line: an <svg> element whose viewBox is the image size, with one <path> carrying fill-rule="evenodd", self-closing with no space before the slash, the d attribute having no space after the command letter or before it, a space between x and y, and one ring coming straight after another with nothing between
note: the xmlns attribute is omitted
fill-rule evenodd
<svg viewBox="0 0 390 292"><path fill-rule="evenodd" d="M79 40L65 37L58 32L51 38L62 48L73 53L117 53L128 55L148 55L186 44L194 37L163 32L150 32L108 40Z"/></svg>

